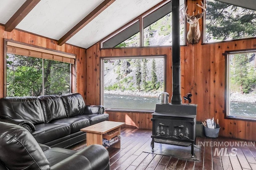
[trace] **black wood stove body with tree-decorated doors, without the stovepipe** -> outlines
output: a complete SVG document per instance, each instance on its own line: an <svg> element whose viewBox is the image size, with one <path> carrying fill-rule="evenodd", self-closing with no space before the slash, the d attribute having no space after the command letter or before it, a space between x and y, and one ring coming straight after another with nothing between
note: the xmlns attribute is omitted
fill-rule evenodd
<svg viewBox="0 0 256 170"><path fill-rule="evenodd" d="M191 146L194 157L196 141L196 107L197 105L157 104L152 113L152 151L154 142Z"/></svg>

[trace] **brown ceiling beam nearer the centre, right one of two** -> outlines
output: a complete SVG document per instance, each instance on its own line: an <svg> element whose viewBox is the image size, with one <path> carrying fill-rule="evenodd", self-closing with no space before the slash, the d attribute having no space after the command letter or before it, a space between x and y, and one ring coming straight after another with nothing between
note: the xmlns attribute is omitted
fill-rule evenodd
<svg viewBox="0 0 256 170"><path fill-rule="evenodd" d="M72 36L79 32L84 26L91 22L96 16L98 16L102 11L104 11L108 6L110 6L115 0L104 0L99 6L97 6L90 14L88 14L84 19L82 19L76 26L74 26L70 31L68 31L60 40L58 40L58 45L63 45Z"/></svg>

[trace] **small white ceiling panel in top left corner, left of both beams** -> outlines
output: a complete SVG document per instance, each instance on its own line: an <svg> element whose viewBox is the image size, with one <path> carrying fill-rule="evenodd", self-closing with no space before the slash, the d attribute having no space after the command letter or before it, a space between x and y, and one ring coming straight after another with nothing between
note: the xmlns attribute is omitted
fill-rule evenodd
<svg viewBox="0 0 256 170"><path fill-rule="evenodd" d="M25 1L26 0L0 0L0 23L6 24Z"/></svg>

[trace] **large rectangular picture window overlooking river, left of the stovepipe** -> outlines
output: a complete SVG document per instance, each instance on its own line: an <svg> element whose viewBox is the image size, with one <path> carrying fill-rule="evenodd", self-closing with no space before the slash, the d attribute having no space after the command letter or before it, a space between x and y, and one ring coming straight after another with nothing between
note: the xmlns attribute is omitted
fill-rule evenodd
<svg viewBox="0 0 256 170"><path fill-rule="evenodd" d="M165 89L165 57L101 58L101 103L106 109L154 110Z"/></svg>

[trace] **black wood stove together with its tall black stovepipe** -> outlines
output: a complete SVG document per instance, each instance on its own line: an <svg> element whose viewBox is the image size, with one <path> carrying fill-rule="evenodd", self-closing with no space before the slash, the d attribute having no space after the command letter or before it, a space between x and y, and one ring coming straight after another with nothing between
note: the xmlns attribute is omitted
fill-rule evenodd
<svg viewBox="0 0 256 170"><path fill-rule="evenodd" d="M152 151L154 142L191 146L194 157L197 105L182 104L180 95L180 4L172 0L172 100L157 104L152 113Z"/></svg>

